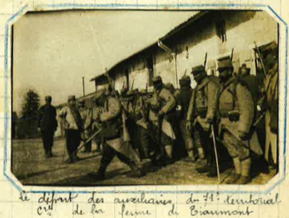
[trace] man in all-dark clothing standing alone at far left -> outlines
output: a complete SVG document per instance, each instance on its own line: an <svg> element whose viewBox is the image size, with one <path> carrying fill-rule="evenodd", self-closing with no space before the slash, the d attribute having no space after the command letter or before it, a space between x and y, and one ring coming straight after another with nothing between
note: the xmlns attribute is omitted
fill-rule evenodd
<svg viewBox="0 0 289 218"><path fill-rule="evenodd" d="M46 104L38 111L38 129L41 131L46 158L51 158L53 156L53 136L58 127L58 122L56 120L56 108L51 105L51 96L46 96L45 102Z"/></svg>

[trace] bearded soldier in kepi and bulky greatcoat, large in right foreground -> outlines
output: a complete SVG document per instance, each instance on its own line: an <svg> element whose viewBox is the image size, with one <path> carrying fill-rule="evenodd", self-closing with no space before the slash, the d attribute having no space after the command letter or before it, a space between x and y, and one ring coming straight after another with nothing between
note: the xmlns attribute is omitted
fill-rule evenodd
<svg viewBox="0 0 289 218"><path fill-rule="evenodd" d="M254 102L248 87L232 76L230 61L219 62L218 70L223 85L219 95L219 134L235 167L235 174L226 183L242 185L251 181L251 151L262 153L256 132L251 133Z"/></svg>

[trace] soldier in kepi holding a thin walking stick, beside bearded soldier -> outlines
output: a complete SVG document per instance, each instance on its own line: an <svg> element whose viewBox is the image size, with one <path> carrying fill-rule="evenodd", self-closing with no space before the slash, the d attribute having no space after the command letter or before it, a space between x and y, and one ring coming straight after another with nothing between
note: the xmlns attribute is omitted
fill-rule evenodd
<svg viewBox="0 0 289 218"><path fill-rule="evenodd" d="M187 128L199 131L201 145L206 153L206 165L196 168L199 173L209 173L209 177L215 177L216 159L214 154L214 144L211 138L211 124L213 124L216 107L217 96L219 93L219 84L211 80L203 65L194 67L191 72L197 85L191 94L191 102L187 115Z"/></svg>

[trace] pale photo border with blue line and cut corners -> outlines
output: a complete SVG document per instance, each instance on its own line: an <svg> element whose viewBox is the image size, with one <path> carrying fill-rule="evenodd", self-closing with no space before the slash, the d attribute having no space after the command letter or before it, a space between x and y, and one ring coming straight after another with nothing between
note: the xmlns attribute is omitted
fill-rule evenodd
<svg viewBox="0 0 289 218"><path fill-rule="evenodd" d="M278 19L279 24L283 24L285 27L285 102L284 102L284 136L283 136L283 160L284 160L284 167L283 167L283 176L277 180L273 185L268 187L266 190L263 191L251 191L251 190L179 190L179 191L130 191L130 190L125 190L125 191L117 191L117 190L112 190L112 191L99 191L100 193L104 194L113 194L113 193L120 193L120 192L125 192L125 193L140 193L140 192L146 192L146 193L177 193L177 194L190 194L190 193L233 193L233 194L265 194L267 195L270 193L275 187L280 185L283 180L285 180L285 175L286 175L286 143L287 143L287 99L288 99L288 24L281 18L278 13L276 13L270 6L266 4L44 4L41 6L37 6L36 9L29 9L28 4L23 6L19 11L14 13L13 16L11 16L5 23L5 53L4 53L4 176L11 182L11 184L16 187L19 192L24 190L25 188L21 187L21 185L17 184L15 180L16 178L11 177L8 173L11 173L11 171L7 171L7 163L8 163L8 133L9 133L9 101L11 101L11 98L9 98L8 95L8 84L10 82L9 80L9 67L8 67L8 61L9 61L9 30L11 29L11 25L16 21L16 18L20 18L23 16L25 13L28 11L37 11L38 9L41 9L43 7L44 11L47 11L46 9L63 9L63 10L71 10L71 9L133 9L133 10L152 10L152 9L163 9L166 8L168 10L174 10L174 9L191 9L191 10L204 10L201 8L221 8L221 7L226 7L224 10L227 8L243 8L243 7L248 7L248 9L253 8L258 8L263 9L263 11L266 11L266 9L269 9L269 11L273 12L275 15L275 18ZM195 9L194 9L195 8ZM237 10L237 9L236 9ZM49 10L48 10L49 11ZM268 13L268 11L266 11ZM270 15L269 15L270 16ZM280 28L279 28L279 42L280 42L281 34L280 34ZM284 42L283 42L284 43ZM280 53L280 44L278 44L279 48L279 53ZM279 55L280 57L280 55ZM280 60L280 59L279 59ZM12 66L11 66L12 70ZM279 70L280 70L280 65L279 65ZM280 78L279 78L280 79ZM280 82L280 80L279 80ZM12 87L11 87L12 89ZM280 106L280 104L279 104ZM280 150L280 149L279 149ZM280 173L280 171L279 171ZM13 175L13 174L12 174ZM18 181L18 180L17 180ZM23 185L22 185L23 186ZM154 185L155 186L155 185ZM172 185L176 186L176 185ZM210 187L220 187L220 185L210 185ZM249 186L248 186L249 187ZM47 187L46 187L47 188ZM70 187L69 187L70 188ZM75 187L71 187L74 189ZM74 190L65 190L65 191L59 191L59 190L29 190L31 193L43 193L43 192L54 192L54 193L90 193L90 191L84 190L84 191L74 191Z"/></svg>

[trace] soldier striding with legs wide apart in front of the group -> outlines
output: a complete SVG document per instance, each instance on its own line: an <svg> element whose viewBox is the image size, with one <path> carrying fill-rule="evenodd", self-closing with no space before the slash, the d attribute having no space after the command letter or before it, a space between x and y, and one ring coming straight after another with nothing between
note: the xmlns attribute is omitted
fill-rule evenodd
<svg viewBox="0 0 289 218"><path fill-rule="evenodd" d="M105 107L103 113L100 113L98 122L102 124L101 134L105 139L105 149L103 157L100 160L100 168L97 173L90 173L89 176L95 180L104 180L107 166L112 159L117 156L122 163L127 164L131 169L132 177L143 176L142 170L138 168L132 156L135 156L135 151L131 148L130 143L124 143L124 129L122 127L122 107L119 100L112 95L112 87L109 85L105 91Z"/></svg>

